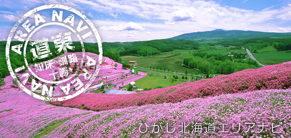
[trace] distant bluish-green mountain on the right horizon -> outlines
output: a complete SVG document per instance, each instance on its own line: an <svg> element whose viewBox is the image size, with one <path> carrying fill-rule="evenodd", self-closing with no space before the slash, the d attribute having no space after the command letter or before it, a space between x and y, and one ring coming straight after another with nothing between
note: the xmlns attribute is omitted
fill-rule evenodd
<svg viewBox="0 0 291 138"><path fill-rule="evenodd" d="M258 31L216 29L205 32L185 33L168 39L214 40L214 39L249 39L262 37L272 37L272 38L291 37L291 33L267 33Z"/></svg>

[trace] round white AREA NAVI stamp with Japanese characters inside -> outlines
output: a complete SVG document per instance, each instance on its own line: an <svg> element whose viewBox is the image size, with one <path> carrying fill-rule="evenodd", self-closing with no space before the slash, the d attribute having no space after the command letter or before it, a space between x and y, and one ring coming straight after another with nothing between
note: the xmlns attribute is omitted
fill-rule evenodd
<svg viewBox="0 0 291 138"><path fill-rule="evenodd" d="M23 65L15 65L11 54L23 58ZM41 100L67 100L102 83L95 81L102 62L100 36L85 15L68 6L45 5L26 13L10 31L6 61L13 83Z"/></svg>

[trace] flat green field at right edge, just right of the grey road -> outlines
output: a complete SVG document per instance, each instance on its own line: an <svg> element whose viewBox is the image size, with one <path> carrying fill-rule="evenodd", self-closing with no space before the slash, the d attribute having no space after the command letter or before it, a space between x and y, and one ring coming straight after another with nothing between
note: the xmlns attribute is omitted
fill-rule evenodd
<svg viewBox="0 0 291 138"><path fill-rule="evenodd" d="M274 65L291 61L291 53L254 53L253 56L264 65Z"/></svg>

